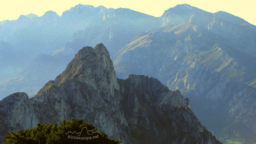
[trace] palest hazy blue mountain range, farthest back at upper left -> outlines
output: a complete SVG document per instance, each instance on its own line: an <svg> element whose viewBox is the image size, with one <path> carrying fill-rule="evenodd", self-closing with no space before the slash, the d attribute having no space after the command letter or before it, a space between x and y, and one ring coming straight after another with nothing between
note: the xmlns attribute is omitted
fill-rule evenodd
<svg viewBox="0 0 256 144"><path fill-rule="evenodd" d="M79 4L63 12L61 17L53 11L47 11L41 17L29 14L21 15L17 20L2 21L0 58L4 62L0 68L0 80L15 77L37 55L59 50L74 39L75 50L67 48L69 44L66 44L65 54L76 54L80 47L100 42L108 46L111 54L115 54L137 32L159 27L160 23L156 19L158 18L130 9L107 9L103 6ZM10 47L18 54L14 53L16 57L8 61L8 55L13 53L13 50L9 50Z"/></svg>

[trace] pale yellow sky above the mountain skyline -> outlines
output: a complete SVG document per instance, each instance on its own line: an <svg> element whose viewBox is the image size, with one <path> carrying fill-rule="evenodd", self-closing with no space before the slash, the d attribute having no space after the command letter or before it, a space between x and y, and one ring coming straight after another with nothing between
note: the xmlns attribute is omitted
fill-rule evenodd
<svg viewBox="0 0 256 144"><path fill-rule="evenodd" d="M0 0L0 21L15 20L30 13L42 16L48 10L61 16L63 11L79 3L94 7L129 8L155 17L160 17L170 7L186 3L212 13L226 11L256 25L256 0Z"/></svg>

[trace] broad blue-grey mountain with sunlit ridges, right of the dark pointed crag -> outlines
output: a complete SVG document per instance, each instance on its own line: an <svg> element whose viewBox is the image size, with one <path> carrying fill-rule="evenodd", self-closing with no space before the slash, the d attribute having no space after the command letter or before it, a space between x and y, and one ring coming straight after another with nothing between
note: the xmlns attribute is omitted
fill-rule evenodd
<svg viewBox="0 0 256 144"><path fill-rule="evenodd" d="M140 32L112 56L114 67L118 78L150 75L179 89L218 139L255 143L256 26L220 13L196 10L182 24Z"/></svg>

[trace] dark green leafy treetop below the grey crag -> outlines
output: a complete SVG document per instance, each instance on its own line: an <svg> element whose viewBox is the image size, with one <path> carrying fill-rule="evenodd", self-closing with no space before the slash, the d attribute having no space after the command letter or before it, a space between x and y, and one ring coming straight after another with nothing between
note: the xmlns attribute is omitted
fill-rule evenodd
<svg viewBox="0 0 256 144"><path fill-rule="evenodd" d="M98 132L90 123L83 119L72 118L71 121L63 120L58 126L55 124L40 124L32 129L9 131L5 135L3 144L120 144L121 141L110 139L104 132Z"/></svg>

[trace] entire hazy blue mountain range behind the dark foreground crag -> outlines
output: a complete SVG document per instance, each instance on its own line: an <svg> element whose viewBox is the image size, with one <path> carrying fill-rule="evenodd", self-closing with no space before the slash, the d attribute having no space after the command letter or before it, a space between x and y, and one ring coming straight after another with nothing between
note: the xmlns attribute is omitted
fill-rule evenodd
<svg viewBox="0 0 256 144"><path fill-rule="evenodd" d="M61 17L48 11L0 22L0 32L1 98L34 96L81 47L103 43L118 78L155 77L189 97L221 142L256 142L256 26L242 18L187 4L161 17L79 4Z"/></svg>

